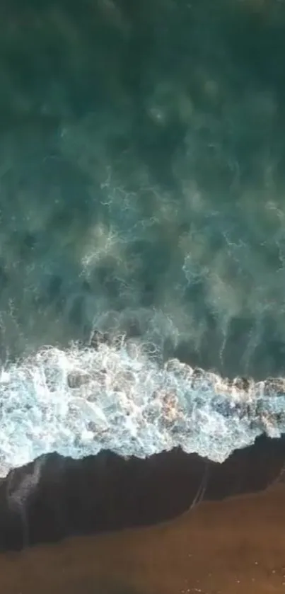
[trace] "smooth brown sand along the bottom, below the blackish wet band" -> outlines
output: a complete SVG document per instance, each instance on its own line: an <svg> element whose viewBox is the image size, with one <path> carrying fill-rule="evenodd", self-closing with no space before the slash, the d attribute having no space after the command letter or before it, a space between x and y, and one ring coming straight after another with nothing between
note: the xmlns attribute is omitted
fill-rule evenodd
<svg viewBox="0 0 285 594"><path fill-rule="evenodd" d="M0 557L1 594L285 592L285 486Z"/></svg>

